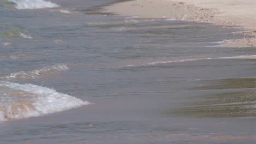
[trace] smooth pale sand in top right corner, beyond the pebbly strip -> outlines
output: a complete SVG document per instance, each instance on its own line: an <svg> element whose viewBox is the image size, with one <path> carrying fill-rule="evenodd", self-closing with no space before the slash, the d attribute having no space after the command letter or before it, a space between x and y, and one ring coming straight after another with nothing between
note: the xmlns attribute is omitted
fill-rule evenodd
<svg viewBox="0 0 256 144"><path fill-rule="evenodd" d="M213 9L220 21L231 21L237 26L256 31L256 0L167 0L184 2L196 7Z"/></svg>

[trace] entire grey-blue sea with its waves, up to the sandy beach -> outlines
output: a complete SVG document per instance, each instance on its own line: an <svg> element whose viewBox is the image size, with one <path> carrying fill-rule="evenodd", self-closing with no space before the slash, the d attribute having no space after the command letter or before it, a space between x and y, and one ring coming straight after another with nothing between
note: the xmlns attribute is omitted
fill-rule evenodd
<svg viewBox="0 0 256 144"><path fill-rule="evenodd" d="M255 143L242 28L0 1L0 143Z"/></svg>

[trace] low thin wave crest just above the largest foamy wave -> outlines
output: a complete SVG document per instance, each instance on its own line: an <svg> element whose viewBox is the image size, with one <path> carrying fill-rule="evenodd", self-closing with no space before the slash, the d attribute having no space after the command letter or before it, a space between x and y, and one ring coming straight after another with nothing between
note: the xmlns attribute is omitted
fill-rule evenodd
<svg viewBox="0 0 256 144"><path fill-rule="evenodd" d="M60 63L55 65L48 65L42 69L30 70L30 71L19 71L18 73L12 73L9 76L2 77L2 79L38 79L45 75L52 74L56 71L68 70L66 63Z"/></svg>

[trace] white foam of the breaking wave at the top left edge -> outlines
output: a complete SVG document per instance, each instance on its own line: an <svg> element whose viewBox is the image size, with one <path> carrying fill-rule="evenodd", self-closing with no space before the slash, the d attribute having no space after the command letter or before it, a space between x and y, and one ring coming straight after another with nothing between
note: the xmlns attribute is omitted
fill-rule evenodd
<svg viewBox="0 0 256 144"><path fill-rule="evenodd" d="M9 2L16 3L17 9L44 9L56 8L59 5L44 0L8 0Z"/></svg>

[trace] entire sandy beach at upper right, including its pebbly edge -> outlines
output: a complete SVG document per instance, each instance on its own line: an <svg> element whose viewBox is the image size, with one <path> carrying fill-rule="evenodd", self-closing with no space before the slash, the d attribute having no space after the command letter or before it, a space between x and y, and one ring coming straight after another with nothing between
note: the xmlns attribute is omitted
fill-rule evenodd
<svg viewBox="0 0 256 144"><path fill-rule="evenodd" d="M137 0L115 3L104 12L140 18L170 18L245 28L243 39L225 47L256 47L256 0Z"/></svg>

